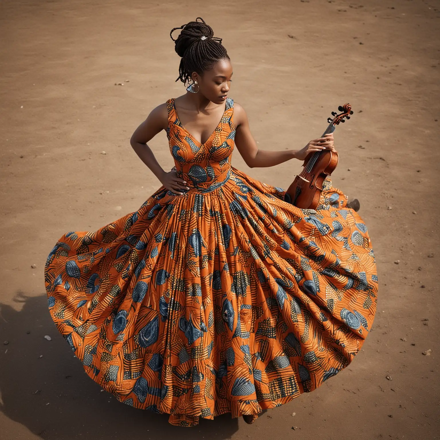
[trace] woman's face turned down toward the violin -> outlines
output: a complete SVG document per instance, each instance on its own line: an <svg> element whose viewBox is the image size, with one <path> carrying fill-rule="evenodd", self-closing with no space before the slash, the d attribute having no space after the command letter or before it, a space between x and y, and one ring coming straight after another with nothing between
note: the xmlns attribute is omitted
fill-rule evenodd
<svg viewBox="0 0 440 440"><path fill-rule="evenodd" d="M213 103L220 104L226 99L231 86L232 65L228 59L217 61L211 70L205 70L203 75L193 72L192 79L197 81L199 92Z"/></svg>

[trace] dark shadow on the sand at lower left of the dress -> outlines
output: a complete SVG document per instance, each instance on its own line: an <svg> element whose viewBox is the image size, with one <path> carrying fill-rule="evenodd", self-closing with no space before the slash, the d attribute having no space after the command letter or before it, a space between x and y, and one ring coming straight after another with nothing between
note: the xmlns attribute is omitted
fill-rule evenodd
<svg viewBox="0 0 440 440"><path fill-rule="evenodd" d="M0 410L41 438L227 439L238 430L230 413L185 428L170 425L168 414L119 402L84 372L55 327L45 295L19 292L14 301L20 312L0 303Z"/></svg>

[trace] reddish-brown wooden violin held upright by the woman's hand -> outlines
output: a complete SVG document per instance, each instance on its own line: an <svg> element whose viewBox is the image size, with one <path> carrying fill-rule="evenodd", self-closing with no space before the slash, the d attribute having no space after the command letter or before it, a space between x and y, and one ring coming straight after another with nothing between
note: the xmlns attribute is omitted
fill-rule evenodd
<svg viewBox="0 0 440 440"><path fill-rule="evenodd" d="M332 111L334 118L327 118L330 124L321 137L333 133L336 125L345 122L344 118L350 119L349 115L353 114L350 104L339 106L338 110L342 113ZM339 155L335 151L321 150L309 153L304 159L303 170L284 194L284 200L301 209L316 209L323 191L323 181L335 170L338 161Z"/></svg>

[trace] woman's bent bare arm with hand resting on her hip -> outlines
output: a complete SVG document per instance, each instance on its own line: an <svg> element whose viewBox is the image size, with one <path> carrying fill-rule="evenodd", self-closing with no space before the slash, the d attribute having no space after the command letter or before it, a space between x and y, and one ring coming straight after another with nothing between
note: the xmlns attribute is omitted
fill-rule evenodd
<svg viewBox="0 0 440 440"><path fill-rule="evenodd" d="M176 176L176 171L166 172L154 157L147 142L162 130L168 128L168 110L166 103L160 104L151 110L147 119L134 131L130 139L130 145L139 159L153 172L162 185L175 194L180 189L187 188L185 181Z"/></svg>

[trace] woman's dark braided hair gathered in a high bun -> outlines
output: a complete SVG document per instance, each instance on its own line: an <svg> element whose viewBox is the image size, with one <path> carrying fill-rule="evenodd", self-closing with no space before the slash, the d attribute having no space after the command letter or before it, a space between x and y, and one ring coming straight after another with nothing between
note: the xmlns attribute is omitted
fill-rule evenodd
<svg viewBox="0 0 440 440"><path fill-rule="evenodd" d="M202 22L198 22L198 19ZM176 29L182 29L179 37L174 40L171 36ZM222 39L214 37L211 26L208 26L202 17L197 17L195 22L172 29L169 33L175 42L175 51L182 57L179 65L179 77L176 81L183 84L191 81L191 73L197 72L199 75L205 70L209 70L220 59L230 59L227 51L221 44ZM205 39L202 37L205 36Z"/></svg>

